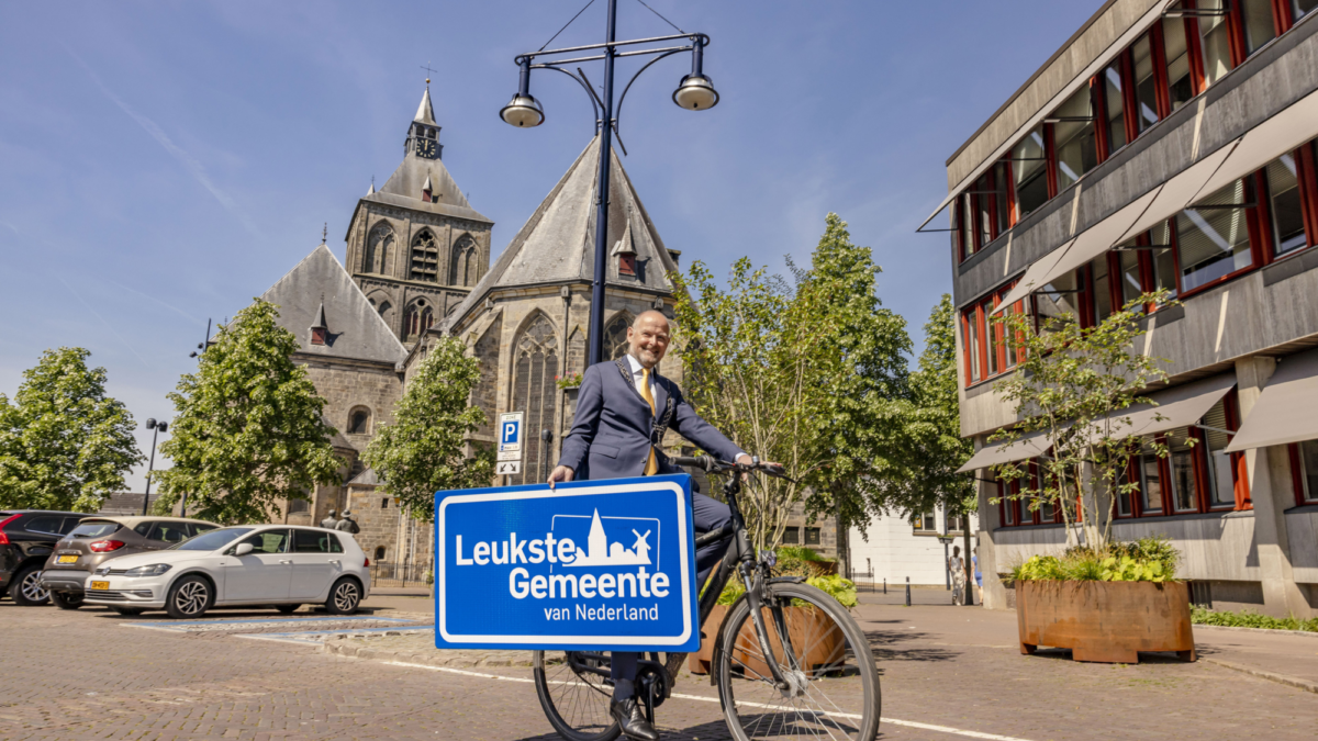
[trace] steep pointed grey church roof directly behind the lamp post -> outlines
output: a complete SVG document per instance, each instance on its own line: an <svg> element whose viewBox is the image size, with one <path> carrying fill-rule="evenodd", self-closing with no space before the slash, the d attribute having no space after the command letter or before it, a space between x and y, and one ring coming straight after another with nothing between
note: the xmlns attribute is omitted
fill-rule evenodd
<svg viewBox="0 0 1318 741"><path fill-rule="evenodd" d="M598 162L597 136L540 202L485 277L439 326L442 331L461 323L492 291L594 280L594 186ZM637 254L637 277L619 277L617 260L609 260L608 285L672 291L667 274L676 272L677 265L668 254L614 152L609 175L610 252L625 239L629 243L625 247L630 247Z"/></svg>

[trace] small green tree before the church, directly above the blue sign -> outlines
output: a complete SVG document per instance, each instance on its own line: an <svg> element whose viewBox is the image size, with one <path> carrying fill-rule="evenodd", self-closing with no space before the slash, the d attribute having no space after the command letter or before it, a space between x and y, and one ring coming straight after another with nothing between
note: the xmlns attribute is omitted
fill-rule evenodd
<svg viewBox="0 0 1318 741"><path fill-rule="evenodd" d="M431 345L394 407L394 423L381 425L362 455L384 492L418 519L434 518L435 492L489 487L494 477L489 450L467 454L485 413L469 401L481 370L465 351L456 338Z"/></svg>

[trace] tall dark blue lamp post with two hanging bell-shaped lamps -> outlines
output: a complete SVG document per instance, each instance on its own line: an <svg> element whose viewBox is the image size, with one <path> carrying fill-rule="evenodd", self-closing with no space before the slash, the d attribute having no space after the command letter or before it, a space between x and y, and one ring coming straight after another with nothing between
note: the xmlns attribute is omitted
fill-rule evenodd
<svg viewBox="0 0 1318 741"><path fill-rule="evenodd" d="M507 124L518 128L531 128L538 127L544 123L544 109L540 103L531 95L531 70L555 70L563 73L572 79L577 80L581 87L590 95L590 107L596 111L596 127L600 132L600 171L596 179L594 189L594 203L596 203L596 225L594 225L594 278L590 285L590 364L600 363L604 360L604 286L605 277L608 274L608 227L609 227L609 166L612 163L613 152L613 134L618 127L618 116L614 113L617 109L618 115L622 112L622 103L627 98L627 90L631 88L631 83L641 76L641 73L646 71L650 65L654 65L664 57L671 57L680 51L691 51L691 74L681 78L677 83L677 90L672 94L672 100L681 108L689 111L704 111L705 108L713 108L718 104L718 92L714 91L713 80L710 80L704 74L704 49L709 44L709 37L702 33L680 33L677 36L660 36L652 38L638 38L633 41L617 41L617 26L618 26L618 0L609 0L609 15L605 26L605 42L593 44L588 46L572 46L564 49L552 49L550 51L531 51L527 54L521 54L515 58L517 66L521 69L521 75L518 79L517 94L513 95L513 100L509 102L500 111L500 117L502 117ZM565 26L564 26L565 28ZM676 28L676 26L673 26ZM681 30L681 29L679 29ZM662 46L662 47L647 47L635 49L630 51L618 51L619 47L633 46L638 44L652 45L663 41L676 41L687 40L689 45L687 46ZM551 40L552 41L552 40ZM559 58L560 55L568 55L569 53L588 51L593 49L602 49L602 53L588 57L575 57L575 58ZM614 108L613 102L613 66L614 61L619 57L641 57L641 55L654 55L655 58L647 62L631 80L622 88L622 96L618 98L617 108ZM536 58L551 58L550 62L535 63ZM596 95L594 88L590 86L589 80L585 78L585 73L581 67L577 67L577 74L564 70L559 65L569 65L576 62L590 62L590 61L604 61L604 98L601 99ZM618 140L622 145L622 140ZM623 145L622 153L626 154L627 149Z"/></svg>

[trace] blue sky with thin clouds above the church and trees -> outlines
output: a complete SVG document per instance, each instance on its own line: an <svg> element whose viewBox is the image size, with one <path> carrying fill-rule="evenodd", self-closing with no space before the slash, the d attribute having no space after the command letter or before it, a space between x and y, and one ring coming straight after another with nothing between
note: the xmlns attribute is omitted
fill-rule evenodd
<svg viewBox="0 0 1318 741"><path fill-rule="evenodd" d="M712 37L722 96L672 104L684 55L627 96L623 166L667 245L716 273L743 254L784 272L836 211L917 341L950 286L946 236L912 233L946 194L945 160L1101 4L647 1ZM170 417L207 318L260 295L323 223L343 260L356 199L402 157L422 65L438 70L444 161L501 251L593 132L584 91L550 73L531 83L544 125L500 121L513 57L584 4L4 4L0 393L42 349L80 345L138 421ZM602 40L604 5L555 46ZM619 0L621 38L671 30Z"/></svg>

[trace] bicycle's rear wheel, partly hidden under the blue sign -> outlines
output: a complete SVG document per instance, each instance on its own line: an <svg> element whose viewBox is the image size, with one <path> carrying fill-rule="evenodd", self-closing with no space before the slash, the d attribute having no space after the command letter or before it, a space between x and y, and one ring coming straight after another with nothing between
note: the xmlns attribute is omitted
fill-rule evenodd
<svg viewBox="0 0 1318 741"><path fill-rule="evenodd" d="M609 715L608 655L534 651L535 694L554 730L568 741L613 741L622 733Z"/></svg>

